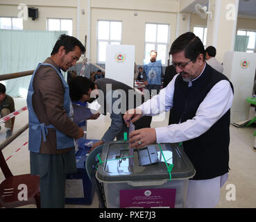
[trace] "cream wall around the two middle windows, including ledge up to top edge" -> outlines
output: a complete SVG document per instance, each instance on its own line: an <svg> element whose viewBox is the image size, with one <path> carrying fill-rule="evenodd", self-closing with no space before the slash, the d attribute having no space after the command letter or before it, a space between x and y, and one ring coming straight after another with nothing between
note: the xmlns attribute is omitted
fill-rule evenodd
<svg viewBox="0 0 256 222"><path fill-rule="evenodd" d="M145 23L169 24L169 51L176 38L176 17L178 1L171 0L94 0L91 3L91 59L96 62L97 21L107 19L122 22L121 44L135 45L135 62L143 64ZM137 16L134 13L137 12Z"/></svg>

